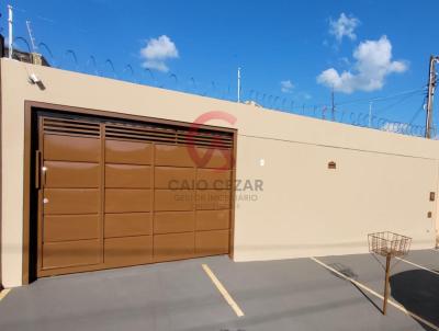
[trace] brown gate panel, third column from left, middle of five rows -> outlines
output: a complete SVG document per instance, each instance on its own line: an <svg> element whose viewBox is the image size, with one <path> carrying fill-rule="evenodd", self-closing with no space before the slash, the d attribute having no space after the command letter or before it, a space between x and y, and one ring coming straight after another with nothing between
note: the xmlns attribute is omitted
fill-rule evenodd
<svg viewBox="0 0 439 331"><path fill-rule="evenodd" d="M192 190L156 190L154 207L157 212L192 210L194 191Z"/></svg>

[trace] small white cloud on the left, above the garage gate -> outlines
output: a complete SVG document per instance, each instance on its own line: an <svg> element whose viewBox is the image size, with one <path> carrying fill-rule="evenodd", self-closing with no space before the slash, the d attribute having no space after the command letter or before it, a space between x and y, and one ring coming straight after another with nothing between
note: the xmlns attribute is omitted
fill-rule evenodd
<svg viewBox="0 0 439 331"><path fill-rule="evenodd" d="M167 35L162 35L158 38L150 38L140 49L140 57L144 59L142 64L144 68L167 72L169 68L166 61L178 58L179 53L176 44Z"/></svg>

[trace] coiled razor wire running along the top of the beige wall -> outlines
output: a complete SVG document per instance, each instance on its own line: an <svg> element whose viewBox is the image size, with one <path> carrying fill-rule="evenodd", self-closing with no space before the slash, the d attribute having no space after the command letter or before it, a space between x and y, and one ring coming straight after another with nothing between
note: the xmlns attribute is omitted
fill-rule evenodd
<svg viewBox="0 0 439 331"><path fill-rule="evenodd" d="M14 52L31 53L30 44L25 37L18 36L14 38L13 43ZM215 80L202 81L193 76L185 77L176 72L157 73L151 68L142 68L140 66L137 68L131 64L115 65L111 58L99 59L94 55L81 56L71 48L66 49L64 53L58 55L47 43L44 42L38 43L38 50L46 61L57 69L67 69L81 73L117 79L137 84L198 94L225 101L236 101L236 95L232 92L232 85L219 83ZM328 104L307 105L283 95L275 95L256 89L241 89L240 98L244 100L244 103L250 103L263 109L277 110L301 116L379 129L394 134L424 137L426 127L414 124L414 119L406 123L395 121L387 116L380 116L380 114L383 114L389 109L397 106L408 98L417 95L416 93L424 92L424 90L425 89L417 89L401 94L402 99L387 107L380 107L374 114L352 110L356 101L336 104L334 107ZM380 99L372 100L379 101ZM369 101L361 100L357 101L357 103ZM438 139L439 137L436 135L435 127L432 128L432 133L434 139Z"/></svg>

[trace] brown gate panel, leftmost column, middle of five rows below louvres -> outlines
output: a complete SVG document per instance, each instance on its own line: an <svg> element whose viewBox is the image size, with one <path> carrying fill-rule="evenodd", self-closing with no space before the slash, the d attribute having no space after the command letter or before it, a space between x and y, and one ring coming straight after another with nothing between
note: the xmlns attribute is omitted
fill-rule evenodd
<svg viewBox="0 0 439 331"><path fill-rule="evenodd" d="M98 214L99 193L97 189L45 189L44 214Z"/></svg>

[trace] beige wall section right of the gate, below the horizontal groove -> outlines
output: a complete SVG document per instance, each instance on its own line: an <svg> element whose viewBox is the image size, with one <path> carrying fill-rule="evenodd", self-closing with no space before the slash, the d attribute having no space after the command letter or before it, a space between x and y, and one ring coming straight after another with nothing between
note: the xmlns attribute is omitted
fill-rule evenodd
<svg viewBox="0 0 439 331"><path fill-rule="evenodd" d="M238 146L238 176L264 182L258 203L237 209L238 261L364 253L376 230L434 246L427 212L435 208L428 192L436 191L436 160L263 138L239 137Z"/></svg>

